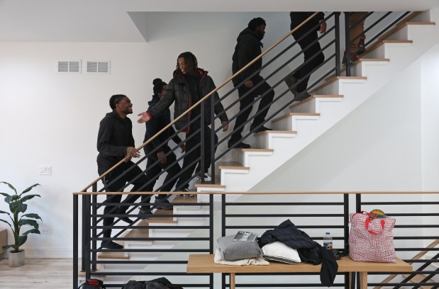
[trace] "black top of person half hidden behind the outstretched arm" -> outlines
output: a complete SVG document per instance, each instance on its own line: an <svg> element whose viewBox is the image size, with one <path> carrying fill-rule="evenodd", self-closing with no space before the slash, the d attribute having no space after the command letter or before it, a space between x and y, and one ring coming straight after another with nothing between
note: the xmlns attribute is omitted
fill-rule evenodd
<svg viewBox="0 0 439 289"><path fill-rule="evenodd" d="M148 102L148 104L150 106L148 108L148 110L153 108L159 101L160 101L160 98L158 98L157 96L152 96L152 101ZM165 126L169 125L170 123L171 123L171 112L170 112L170 109L167 108L157 118L151 118L150 121L147 121L145 123L146 132L145 132L145 140L143 140L143 142L146 142L147 140L149 140L157 132L162 130L162 128L165 128ZM169 128L167 128L167 130L162 132L160 135L155 137L155 139L152 140L152 142L150 142L148 145L146 145L145 150L150 152L150 151L152 151L152 149L167 145L167 139L170 136L174 135L174 133L175 133L175 130L171 125ZM174 137L172 137L172 140L177 145L179 145L179 143L182 142L182 139L178 135L175 135ZM157 153L157 152L162 152L162 151L163 151L163 149L157 149L155 152Z"/></svg>

